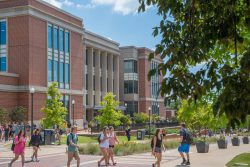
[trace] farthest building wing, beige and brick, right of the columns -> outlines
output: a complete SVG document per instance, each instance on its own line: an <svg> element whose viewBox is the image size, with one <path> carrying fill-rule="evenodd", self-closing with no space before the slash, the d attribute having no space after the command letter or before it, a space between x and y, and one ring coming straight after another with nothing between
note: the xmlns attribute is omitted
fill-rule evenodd
<svg viewBox="0 0 250 167"><path fill-rule="evenodd" d="M148 81L148 72L162 62L159 55L148 61L153 51L134 46L120 47L120 99L126 106L126 114L144 112L166 118L164 99L159 95L161 75L152 76Z"/></svg>

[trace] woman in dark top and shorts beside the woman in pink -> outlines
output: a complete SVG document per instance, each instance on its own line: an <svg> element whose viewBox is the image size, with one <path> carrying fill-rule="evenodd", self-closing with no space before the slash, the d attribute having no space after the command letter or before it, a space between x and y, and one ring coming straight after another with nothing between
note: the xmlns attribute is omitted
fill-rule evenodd
<svg viewBox="0 0 250 167"><path fill-rule="evenodd" d="M42 136L40 135L40 130L36 129L34 134L31 136L30 144L33 147L33 154L31 156L31 161L34 162L39 162L37 158L38 154L38 149L40 148L40 142L42 141Z"/></svg>

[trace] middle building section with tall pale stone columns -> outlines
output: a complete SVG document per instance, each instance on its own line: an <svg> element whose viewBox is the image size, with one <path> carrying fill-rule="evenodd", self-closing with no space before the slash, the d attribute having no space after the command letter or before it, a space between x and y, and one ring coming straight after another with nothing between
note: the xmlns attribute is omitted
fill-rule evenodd
<svg viewBox="0 0 250 167"><path fill-rule="evenodd" d="M107 92L119 100L119 44L90 31L84 34L84 113L91 121Z"/></svg>

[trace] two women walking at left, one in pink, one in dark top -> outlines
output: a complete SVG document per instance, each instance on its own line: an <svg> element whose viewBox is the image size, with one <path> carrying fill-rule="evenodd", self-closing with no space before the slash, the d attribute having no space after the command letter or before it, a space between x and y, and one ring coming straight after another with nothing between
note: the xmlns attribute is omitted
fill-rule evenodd
<svg viewBox="0 0 250 167"><path fill-rule="evenodd" d="M42 137L40 135L40 130L36 129L30 139L30 145L33 147L33 154L31 156L32 162L39 162L38 160L38 149L40 149ZM22 167L24 167L25 162L25 146L26 146L26 133L23 129L18 131L18 134L14 136L13 144L11 146L11 150L14 153L14 158L8 164L8 167L11 167L12 164L21 156Z"/></svg>

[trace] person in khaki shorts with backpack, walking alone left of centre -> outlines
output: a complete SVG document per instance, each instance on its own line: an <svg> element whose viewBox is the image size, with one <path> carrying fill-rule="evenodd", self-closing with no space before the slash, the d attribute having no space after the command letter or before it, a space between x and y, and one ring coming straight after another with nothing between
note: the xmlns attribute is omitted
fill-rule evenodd
<svg viewBox="0 0 250 167"><path fill-rule="evenodd" d="M79 156L79 146L77 145L77 127L73 126L71 132L67 136L68 145L68 162L67 167L70 167L70 163L73 158L77 161L77 167L80 167L80 156Z"/></svg>

